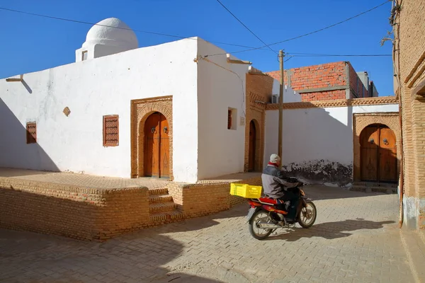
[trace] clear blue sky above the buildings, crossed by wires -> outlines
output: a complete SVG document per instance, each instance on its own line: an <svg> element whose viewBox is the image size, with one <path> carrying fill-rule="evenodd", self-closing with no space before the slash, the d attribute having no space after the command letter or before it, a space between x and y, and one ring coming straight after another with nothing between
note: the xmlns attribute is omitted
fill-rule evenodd
<svg viewBox="0 0 425 283"><path fill-rule="evenodd" d="M232 13L266 43L309 33L378 6L384 0L221 0ZM3 1L2 8L71 18L97 23L115 17L135 30L199 36L211 42L228 42L259 47L263 45L233 18L216 0L15 0ZM380 40L391 29L388 18L391 2L363 16L319 33L273 45L273 50L319 54L391 54L391 43ZM75 61L91 25L57 21L0 11L2 44L0 78L39 71ZM176 40L173 37L136 33L140 47ZM227 52L243 47L220 45ZM253 62L262 71L279 68L276 54L254 50L235 54ZM380 96L393 95L391 57L293 57L285 69L349 61L356 71L368 71Z"/></svg>

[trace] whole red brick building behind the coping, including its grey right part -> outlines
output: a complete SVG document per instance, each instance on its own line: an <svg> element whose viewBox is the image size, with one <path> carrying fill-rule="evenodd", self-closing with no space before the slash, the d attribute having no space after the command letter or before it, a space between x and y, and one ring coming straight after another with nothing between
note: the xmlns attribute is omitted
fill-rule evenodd
<svg viewBox="0 0 425 283"><path fill-rule="evenodd" d="M267 73L280 80L280 71ZM285 84L300 93L302 101L348 99L378 96L368 73L356 73L350 62L334 62L286 69Z"/></svg>

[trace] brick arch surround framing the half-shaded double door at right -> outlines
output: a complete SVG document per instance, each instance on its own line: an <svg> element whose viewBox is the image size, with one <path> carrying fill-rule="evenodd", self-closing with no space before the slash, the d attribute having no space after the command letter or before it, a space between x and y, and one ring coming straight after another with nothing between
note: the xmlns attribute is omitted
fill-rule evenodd
<svg viewBox="0 0 425 283"><path fill-rule="evenodd" d="M398 113L368 113L368 114L354 114L353 115L353 178L355 182L361 181L361 149L360 149L360 134L372 124L382 124L389 127L395 134L397 145L397 174L399 174L399 166L401 159L402 148L400 140L402 138L401 129L399 125Z"/></svg>

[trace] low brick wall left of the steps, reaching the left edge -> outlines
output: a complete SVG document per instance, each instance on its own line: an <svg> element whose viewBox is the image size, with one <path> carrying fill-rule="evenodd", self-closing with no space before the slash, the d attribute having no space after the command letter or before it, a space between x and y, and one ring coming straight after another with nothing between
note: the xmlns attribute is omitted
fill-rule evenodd
<svg viewBox="0 0 425 283"><path fill-rule="evenodd" d="M148 221L146 187L98 190L0 178L0 228L104 241Z"/></svg>

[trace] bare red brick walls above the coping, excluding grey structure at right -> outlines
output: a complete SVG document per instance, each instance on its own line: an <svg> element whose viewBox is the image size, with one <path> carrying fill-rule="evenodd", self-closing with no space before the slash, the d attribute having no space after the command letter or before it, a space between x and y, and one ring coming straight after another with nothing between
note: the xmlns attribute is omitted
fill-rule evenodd
<svg viewBox="0 0 425 283"><path fill-rule="evenodd" d="M350 62L341 61L285 70L283 73L285 84L289 84L295 91L338 86L346 87L348 84L346 64L348 64L350 70L349 83L352 89L350 98L353 98L353 93L357 93L357 79L361 84L360 86L363 86L363 83L361 83L360 78L358 78L358 75L356 74L356 71L354 71ZM280 71L271 71L267 74L277 80L280 80ZM360 86L359 89L363 91L363 88L360 88ZM367 94L366 88L365 94ZM301 96L302 101L345 99L346 91L345 89L316 91L301 93Z"/></svg>

